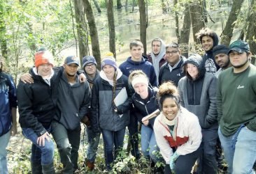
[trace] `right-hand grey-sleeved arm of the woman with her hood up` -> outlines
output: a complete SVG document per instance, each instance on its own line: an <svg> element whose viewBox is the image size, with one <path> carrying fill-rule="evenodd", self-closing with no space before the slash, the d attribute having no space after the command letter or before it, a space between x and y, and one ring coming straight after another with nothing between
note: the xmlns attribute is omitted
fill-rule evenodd
<svg viewBox="0 0 256 174"><path fill-rule="evenodd" d="M217 86L217 78L213 77L208 87L208 96L210 100L210 106L206 116L206 120L211 124L213 124L213 122L216 122L218 118L218 112L216 107L216 86Z"/></svg>

